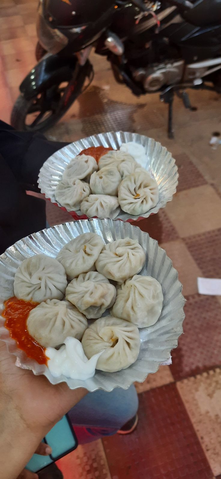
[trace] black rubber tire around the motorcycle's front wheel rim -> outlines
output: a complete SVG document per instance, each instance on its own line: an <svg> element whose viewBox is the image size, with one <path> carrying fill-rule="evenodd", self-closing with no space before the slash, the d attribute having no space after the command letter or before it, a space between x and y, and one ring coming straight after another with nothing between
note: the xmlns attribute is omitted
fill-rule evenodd
<svg viewBox="0 0 221 479"><path fill-rule="evenodd" d="M80 93L83 91L84 82L87 75L87 70L82 71L79 73L76 79L74 91L68 96L68 101L66 103L62 102L62 97L58 93L59 85L55 85L48 89L47 91L51 91L52 89L55 90L54 95L54 105L55 109L52 110L52 114L44 119L44 114L46 112L41 112L40 108L38 108L39 103L39 96L41 102L41 95L47 94L47 91L43 91L42 93L38 93L36 97L32 98L31 100L26 100L24 96L21 94L17 98L12 112L11 112L11 126L13 126L16 130L19 131L28 131L28 132L44 132L48 128L54 126L58 120L66 113L66 111L70 108L72 103L77 99ZM69 83L67 84L66 88L72 88ZM42 102L43 103L43 102ZM37 105L37 106L35 106ZM44 104L43 104L44 109ZM40 112L35 119L33 120L32 124L26 123L26 117L28 114L34 114L36 112ZM38 120L39 121L36 121ZM43 121L40 121L43 119Z"/></svg>

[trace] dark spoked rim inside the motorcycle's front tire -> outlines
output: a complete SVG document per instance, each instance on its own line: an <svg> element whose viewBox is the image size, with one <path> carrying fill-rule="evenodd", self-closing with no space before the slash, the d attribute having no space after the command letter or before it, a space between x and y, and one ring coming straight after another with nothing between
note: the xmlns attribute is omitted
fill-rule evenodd
<svg viewBox="0 0 221 479"><path fill-rule="evenodd" d="M65 108L62 98L67 88L68 82L63 82L38 93L30 100L24 119L26 131L42 130L53 118L61 114L61 109Z"/></svg>

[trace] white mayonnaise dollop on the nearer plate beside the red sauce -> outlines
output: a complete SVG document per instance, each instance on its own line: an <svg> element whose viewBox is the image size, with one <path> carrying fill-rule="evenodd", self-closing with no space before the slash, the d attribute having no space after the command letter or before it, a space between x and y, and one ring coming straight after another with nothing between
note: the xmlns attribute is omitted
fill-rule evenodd
<svg viewBox="0 0 221 479"><path fill-rule="evenodd" d="M94 354L88 359L84 354L81 342L68 336L58 351L49 347L46 348L45 354L49 358L47 367L52 376L58 377L63 374L66 377L71 377L71 379L85 381L94 376L102 352Z"/></svg>

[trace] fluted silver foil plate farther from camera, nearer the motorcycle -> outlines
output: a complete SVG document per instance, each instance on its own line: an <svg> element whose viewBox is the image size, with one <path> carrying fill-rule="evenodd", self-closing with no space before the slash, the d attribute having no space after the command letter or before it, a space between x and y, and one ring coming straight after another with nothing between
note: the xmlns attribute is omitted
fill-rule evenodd
<svg viewBox="0 0 221 479"><path fill-rule="evenodd" d="M169 153L165 147L162 147L159 142L153 138L138 135L137 133L127 133L123 131L100 133L99 135L93 135L92 137L70 143L70 145L56 151L44 162L40 170L38 184L41 192L45 195L45 198L49 199L64 211L67 211L64 206L56 201L55 188L61 181L68 163L85 148L102 145L105 148L111 147L113 149L119 149L122 143L128 143L129 141L135 141L144 146L148 158L145 169L151 173L158 184L159 200L154 208L151 208L147 213L142 214L142 216L130 215L121 210L115 219L122 219L123 221L129 222L138 221L143 218L148 218L153 213L157 213L160 208L165 208L166 203L171 201L173 194L176 193L178 184L177 165L171 153ZM82 215L80 210L68 211L68 213L74 219L87 219L87 216Z"/></svg>

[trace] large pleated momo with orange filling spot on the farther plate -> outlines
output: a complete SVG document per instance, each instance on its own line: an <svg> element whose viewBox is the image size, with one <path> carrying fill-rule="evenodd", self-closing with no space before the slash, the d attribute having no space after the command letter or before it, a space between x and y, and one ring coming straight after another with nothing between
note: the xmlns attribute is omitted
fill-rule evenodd
<svg viewBox="0 0 221 479"><path fill-rule="evenodd" d="M124 178L118 190L121 208L131 215L142 215L153 208L159 199L156 181L142 168Z"/></svg>

